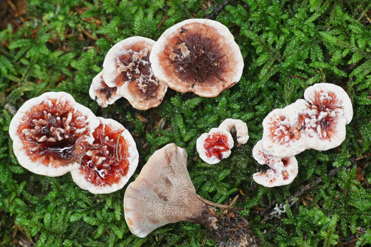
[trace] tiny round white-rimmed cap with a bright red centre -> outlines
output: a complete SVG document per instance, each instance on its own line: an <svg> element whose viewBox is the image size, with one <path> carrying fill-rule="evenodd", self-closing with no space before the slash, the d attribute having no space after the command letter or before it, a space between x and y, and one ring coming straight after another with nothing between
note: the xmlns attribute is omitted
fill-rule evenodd
<svg viewBox="0 0 371 247"><path fill-rule="evenodd" d="M197 138L196 148L200 158L209 164L219 163L231 154L232 135L222 128L212 128Z"/></svg>

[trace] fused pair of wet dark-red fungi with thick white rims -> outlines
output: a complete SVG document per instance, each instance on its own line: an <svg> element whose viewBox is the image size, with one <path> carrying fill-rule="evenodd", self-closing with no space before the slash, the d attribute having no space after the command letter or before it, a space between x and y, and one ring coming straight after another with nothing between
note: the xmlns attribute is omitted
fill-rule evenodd
<svg viewBox="0 0 371 247"><path fill-rule="evenodd" d="M96 117L64 92L27 100L9 134L24 168L50 177L70 172L79 187L94 194L121 189L138 165L137 147L124 126Z"/></svg>

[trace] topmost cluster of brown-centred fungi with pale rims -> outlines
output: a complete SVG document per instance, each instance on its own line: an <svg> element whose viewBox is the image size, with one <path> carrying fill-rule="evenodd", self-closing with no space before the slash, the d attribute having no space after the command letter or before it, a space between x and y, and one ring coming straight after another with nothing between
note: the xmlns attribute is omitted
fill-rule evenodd
<svg viewBox="0 0 371 247"><path fill-rule="evenodd" d="M226 26L189 19L157 42L135 36L115 44L89 94L102 107L125 97L134 108L147 110L161 104L167 87L216 97L240 80L242 70L241 51Z"/></svg>

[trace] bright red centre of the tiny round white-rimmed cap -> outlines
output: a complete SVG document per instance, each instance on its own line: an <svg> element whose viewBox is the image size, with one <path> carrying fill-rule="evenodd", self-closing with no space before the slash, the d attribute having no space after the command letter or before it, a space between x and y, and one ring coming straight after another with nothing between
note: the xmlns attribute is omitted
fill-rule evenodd
<svg viewBox="0 0 371 247"><path fill-rule="evenodd" d="M215 156L219 160L223 159L223 152L229 151L228 137L224 134L214 134L206 138L204 143L206 156Z"/></svg>

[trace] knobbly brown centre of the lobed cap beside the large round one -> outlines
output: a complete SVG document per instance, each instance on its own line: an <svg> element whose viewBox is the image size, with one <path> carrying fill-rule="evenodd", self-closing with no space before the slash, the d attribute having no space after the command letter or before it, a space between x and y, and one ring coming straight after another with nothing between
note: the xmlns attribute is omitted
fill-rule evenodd
<svg viewBox="0 0 371 247"><path fill-rule="evenodd" d="M144 44L138 42L117 56L116 85L120 87L128 83L130 88L134 87L132 93L139 94L143 99L148 100L156 97L159 82L152 73L150 51L143 47Z"/></svg>

